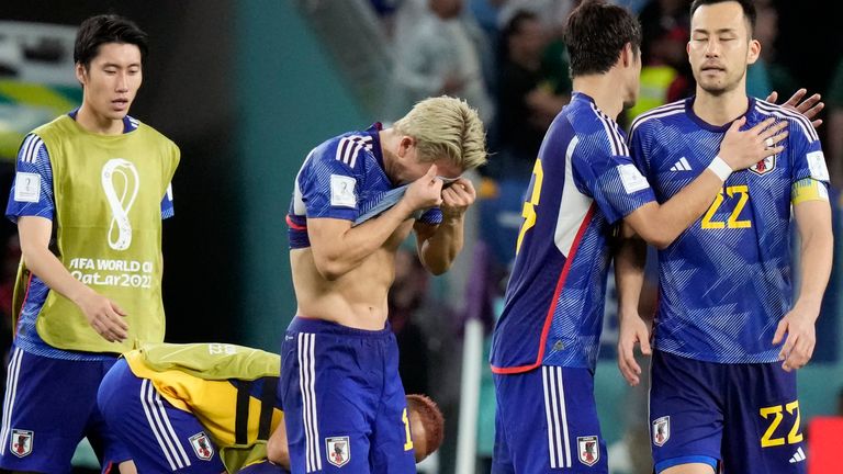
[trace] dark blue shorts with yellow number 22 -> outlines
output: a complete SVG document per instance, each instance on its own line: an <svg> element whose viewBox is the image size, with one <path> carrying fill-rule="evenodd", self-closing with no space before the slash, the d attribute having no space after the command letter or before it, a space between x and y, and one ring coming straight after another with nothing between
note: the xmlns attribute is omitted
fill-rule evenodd
<svg viewBox="0 0 843 474"><path fill-rule="evenodd" d="M805 473L796 374L655 351L650 429L656 473L706 463L727 473Z"/></svg>

